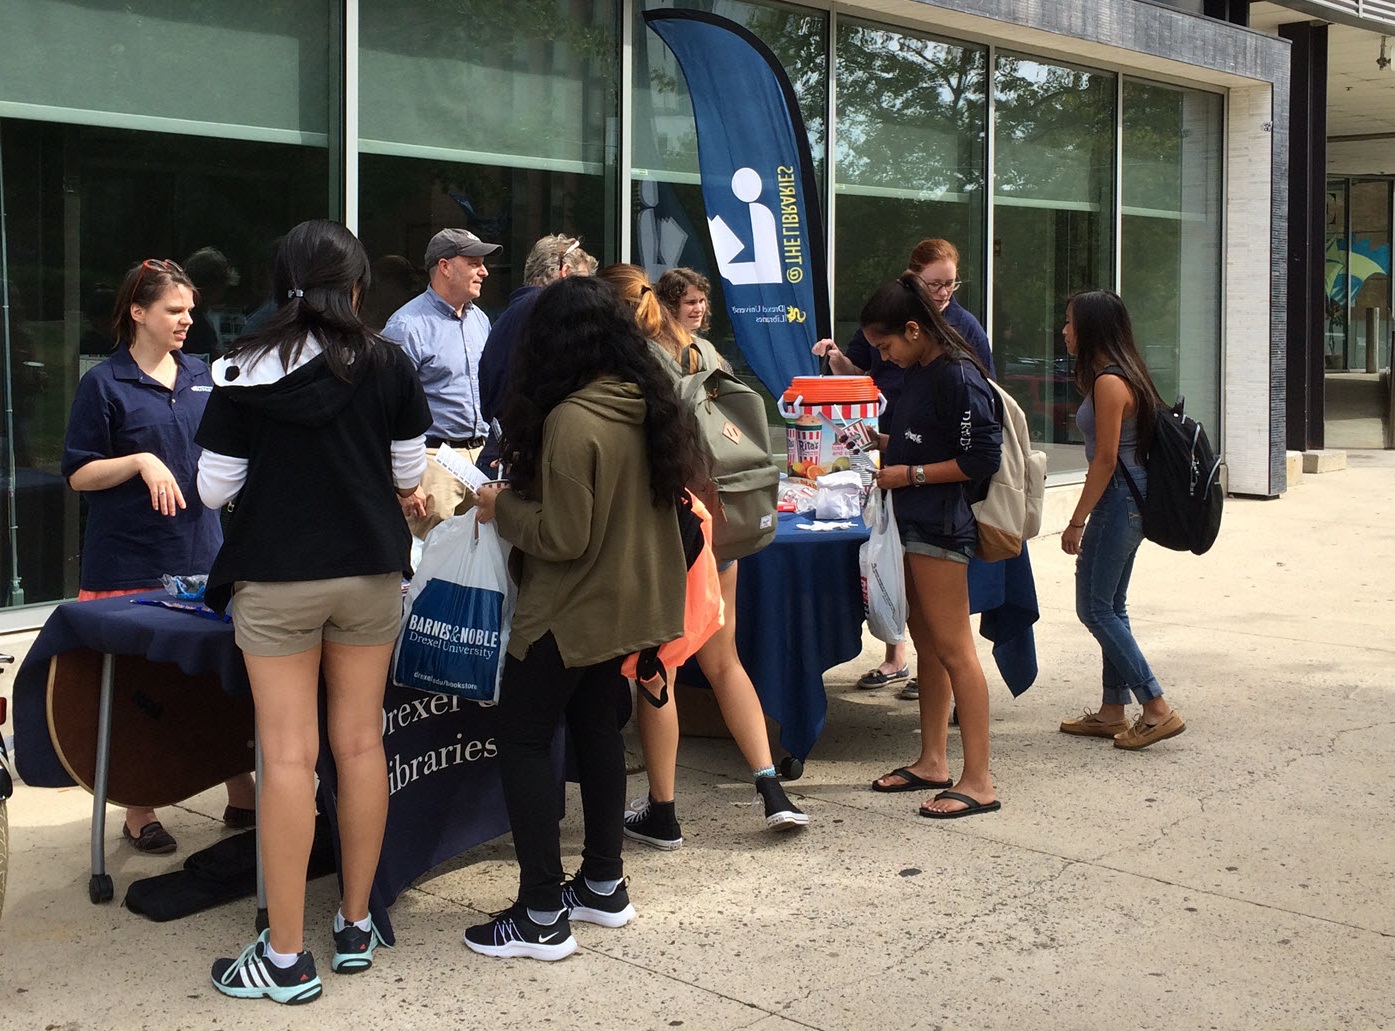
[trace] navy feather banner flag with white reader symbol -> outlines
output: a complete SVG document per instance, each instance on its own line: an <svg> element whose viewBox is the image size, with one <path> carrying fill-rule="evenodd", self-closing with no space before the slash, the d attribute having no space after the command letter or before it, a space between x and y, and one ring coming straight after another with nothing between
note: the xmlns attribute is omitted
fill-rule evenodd
<svg viewBox="0 0 1395 1031"><path fill-rule="evenodd" d="M829 273L809 137L790 78L741 25L646 11L674 52L698 121L707 227L737 346L771 393L816 375L831 336Z"/></svg>

